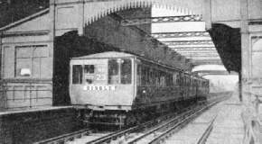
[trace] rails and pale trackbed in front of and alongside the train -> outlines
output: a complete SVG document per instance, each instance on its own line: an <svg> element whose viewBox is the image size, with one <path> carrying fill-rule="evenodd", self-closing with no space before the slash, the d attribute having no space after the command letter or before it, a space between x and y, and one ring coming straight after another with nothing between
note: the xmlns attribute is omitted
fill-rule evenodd
<svg viewBox="0 0 262 144"><path fill-rule="evenodd" d="M63 135L57 138L46 139L36 144L94 144L94 143L158 143L163 141L176 130L180 130L189 121L207 110L215 103L219 103L223 99L208 105L194 105L180 112L173 112L159 117L153 121L147 121L143 124L126 130L117 130L108 134L94 133L92 130L80 130L68 135ZM180 114L178 114L180 113Z"/></svg>

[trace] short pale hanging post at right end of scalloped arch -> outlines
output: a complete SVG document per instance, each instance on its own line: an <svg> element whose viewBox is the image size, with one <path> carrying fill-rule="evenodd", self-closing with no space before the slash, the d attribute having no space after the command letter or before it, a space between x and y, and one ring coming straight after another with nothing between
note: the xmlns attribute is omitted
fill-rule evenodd
<svg viewBox="0 0 262 144"><path fill-rule="evenodd" d="M204 1L204 20L205 20L205 26L206 26L206 31L211 30L212 25L211 25L211 15L212 15L212 11L211 11L211 0L205 0Z"/></svg>

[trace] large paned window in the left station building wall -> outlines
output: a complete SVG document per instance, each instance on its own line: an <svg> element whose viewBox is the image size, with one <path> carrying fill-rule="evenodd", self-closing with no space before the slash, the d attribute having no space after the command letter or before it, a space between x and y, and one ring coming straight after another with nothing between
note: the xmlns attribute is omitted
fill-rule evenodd
<svg viewBox="0 0 262 144"><path fill-rule="evenodd" d="M15 48L15 76L49 76L47 46L21 46Z"/></svg>

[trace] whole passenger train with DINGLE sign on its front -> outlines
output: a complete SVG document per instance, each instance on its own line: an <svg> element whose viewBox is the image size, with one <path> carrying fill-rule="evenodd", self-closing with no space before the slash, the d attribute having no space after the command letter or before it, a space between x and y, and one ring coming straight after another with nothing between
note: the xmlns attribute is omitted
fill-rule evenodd
<svg viewBox="0 0 262 144"><path fill-rule="evenodd" d="M70 58L70 101L89 124L137 124L206 100L209 80L126 51Z"/></svg>

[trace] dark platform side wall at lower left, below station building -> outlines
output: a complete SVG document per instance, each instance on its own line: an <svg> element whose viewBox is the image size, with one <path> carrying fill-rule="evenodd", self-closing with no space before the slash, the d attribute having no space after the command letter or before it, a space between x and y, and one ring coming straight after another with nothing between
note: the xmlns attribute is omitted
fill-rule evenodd
<svg viewBox="0 0 262 144"><path fill-rule="evenodd" d="M1 113L0 113L1 114ZM0 115L0 143L29 144L80 130L77 112L71 107Z"/></svg>

